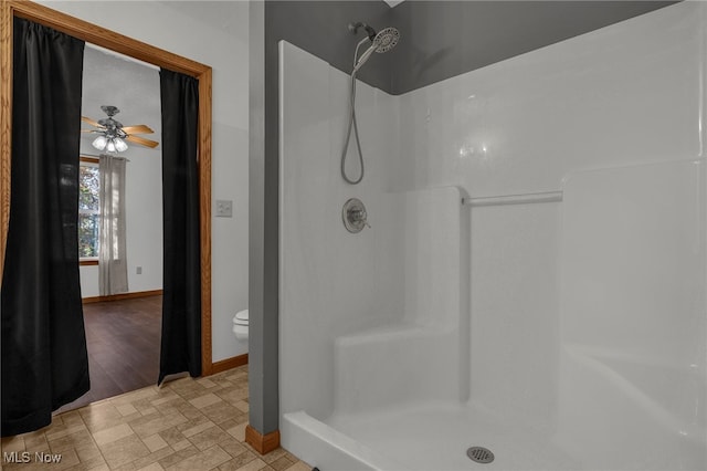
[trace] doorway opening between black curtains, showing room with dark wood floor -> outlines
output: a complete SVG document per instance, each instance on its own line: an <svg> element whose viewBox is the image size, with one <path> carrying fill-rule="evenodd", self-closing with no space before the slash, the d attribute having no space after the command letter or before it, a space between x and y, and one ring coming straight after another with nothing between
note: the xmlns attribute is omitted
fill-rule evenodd
<svg viewBox="0 0 707 471"><path fill-rule="evenodd" d="M116 107L123 126L139 123L152 130L151 142L161 143L159 69L87 43L84 50L82 116L94 123L105 119L104 107ZM135 126L134 126L135 127ZM162 168L161 146L128 142L122 150L99 150L101 133L82 126L80 148L78 252L84 325L91 374L91 390L55 414L146 386L159 377L162 310ZM127 129L127 127L126 127ZM101 147L98 145L98 147ZM110 156L110 157L107 157ZM123 185L106 196L101 158L120 159ZM104 168L105 170L105 168ZM116 193L117 191L117 193ZM104 199L122 201L120 230L110 239L124 253L120 273L105 276L118 283L101 283L99 253L108 238ZM104 263L104 262L102 262ZM109 262L108 262L109 264ZM104 273L105 275L105 273Z"/></svg>

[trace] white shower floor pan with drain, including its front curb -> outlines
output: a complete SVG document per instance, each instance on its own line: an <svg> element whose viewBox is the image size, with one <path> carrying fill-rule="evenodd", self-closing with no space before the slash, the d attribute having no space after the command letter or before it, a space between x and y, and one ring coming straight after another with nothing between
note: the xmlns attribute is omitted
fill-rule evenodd
<svg viewBox="0 0 707 471"><path fill-rule="evenodd" d="M283 431L285 448L293 438L291 451L327 471L582 469L537 430L503 425L465 404L337 415L326 423L305 412L286 414ZM472 461L466 450L476 446L489 449L494 461Z"/></svg>

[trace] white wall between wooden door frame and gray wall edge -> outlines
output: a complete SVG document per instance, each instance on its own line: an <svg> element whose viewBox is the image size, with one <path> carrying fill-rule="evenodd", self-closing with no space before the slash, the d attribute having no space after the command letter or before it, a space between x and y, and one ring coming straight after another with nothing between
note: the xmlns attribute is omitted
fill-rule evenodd
<svg viewBox="0 0 707 471"><path fill-rule="evenodd" d="M232 320L247 306L247 2L41 3L213 69L212 198L232 199L233 218L212 220L212 357L245 353Z"/></svg>

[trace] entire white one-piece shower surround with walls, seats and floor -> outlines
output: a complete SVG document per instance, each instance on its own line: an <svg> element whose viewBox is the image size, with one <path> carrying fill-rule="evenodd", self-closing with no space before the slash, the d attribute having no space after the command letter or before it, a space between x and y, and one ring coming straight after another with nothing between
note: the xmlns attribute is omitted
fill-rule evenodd
<svg viewBox="0 0 707 471"><path fill-rule="evenodd" d="M348 77L281 44L285 448L323 470L707 469L706 8L401 96L359 83L356 187Z"/></svg>

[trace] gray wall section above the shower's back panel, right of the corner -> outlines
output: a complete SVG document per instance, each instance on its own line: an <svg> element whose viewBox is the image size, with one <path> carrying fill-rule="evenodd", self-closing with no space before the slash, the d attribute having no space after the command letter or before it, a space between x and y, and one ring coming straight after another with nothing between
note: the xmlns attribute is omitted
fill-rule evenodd
<svg viewBox="0 0 707 471"><path fill-rule="evenodd" d="M392 94L402 94L675 1L405 1Z"/></svg>

